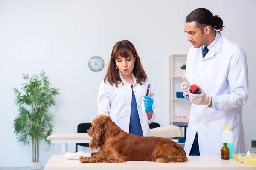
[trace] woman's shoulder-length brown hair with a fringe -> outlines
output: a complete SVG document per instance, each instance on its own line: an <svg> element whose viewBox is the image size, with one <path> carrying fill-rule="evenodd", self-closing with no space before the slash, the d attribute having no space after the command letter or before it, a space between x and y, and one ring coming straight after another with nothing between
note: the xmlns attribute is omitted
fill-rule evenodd
<svg viewBox="0 0 256 170"><path fill-rule="evenodd" d="M124 83L122 82L120 76L119 76L119 70L116 69L116 59L118 57L134 57L135 62L134 62L134 68L132 70L132 73L134 74L134 77L136 77L137 83L140 83L141 85L145 82L147 79L147 74L145 73L143 66L140 62L140 57L134 47L134 45L128 41L128 40L123 40L116 42L116 45L114 45L108 65L108 71L105 75L104 82L108 80L110 85L115 85L116 87L118 84Z"/></svg>

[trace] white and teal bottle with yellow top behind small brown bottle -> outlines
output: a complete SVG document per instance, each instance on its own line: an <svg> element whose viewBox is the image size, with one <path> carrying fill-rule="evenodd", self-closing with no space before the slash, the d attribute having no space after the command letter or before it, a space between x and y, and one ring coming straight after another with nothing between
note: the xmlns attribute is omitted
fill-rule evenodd
<svg viewBox="0 0 256 170"><path fill-rule="evenodd" d="M221 143L223 147L223 143L227 143L227 147L230 150L230 159L232 159L232 153L234 153L234 136L233 132L230 131L230 127L228 124L225 124L225 131L222 132Z"/></svg>

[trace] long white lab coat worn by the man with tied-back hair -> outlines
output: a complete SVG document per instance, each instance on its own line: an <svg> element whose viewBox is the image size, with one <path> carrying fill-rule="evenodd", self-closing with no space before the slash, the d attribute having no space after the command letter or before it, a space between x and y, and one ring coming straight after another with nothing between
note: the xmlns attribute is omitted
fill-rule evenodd
<svg viewBox="0 0 256 170"><path fill-rule="evenodd" d="M192 104L185 151L189 155L198 132L200 155L221 155L221 134L229 124L234 135L234 153L244 153L242 105L248 98L246 53L223 34L202 57L202 48L190 48L185 77L212 96L212 107Z"/></svg>

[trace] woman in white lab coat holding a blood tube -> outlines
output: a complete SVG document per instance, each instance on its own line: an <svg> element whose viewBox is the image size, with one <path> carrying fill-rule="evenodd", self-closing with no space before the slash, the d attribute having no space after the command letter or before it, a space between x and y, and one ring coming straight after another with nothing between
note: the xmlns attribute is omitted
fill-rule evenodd
<svg viewBox="0 0 256 170"><path fill-rule="evenodd" d="M154 96L134 45L127 40L117 42L99 87L98 114L109 115L125 132L151 136L148 124L155 119Z"/></svg>

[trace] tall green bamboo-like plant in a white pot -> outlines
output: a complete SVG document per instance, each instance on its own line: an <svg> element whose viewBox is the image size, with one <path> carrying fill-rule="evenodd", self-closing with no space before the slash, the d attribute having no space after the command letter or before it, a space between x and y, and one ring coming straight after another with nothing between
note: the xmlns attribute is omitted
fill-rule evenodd
<svg viewBox="0 0 256 170"><path fill-rule="evenodd" d="M31 169L40 169L39 143L41 140L50 141L47 136L52 133L54 116L49 112L52 105L56 105L55 96L59 95L58 88L50 88L49 78L44 71L39 75L23 78L26 82L19 91L14 88L15 105L18 107L18 116L14 120L14 133L22 145L32 146ZM23 94L24 93L24 94Z"/></svg>

